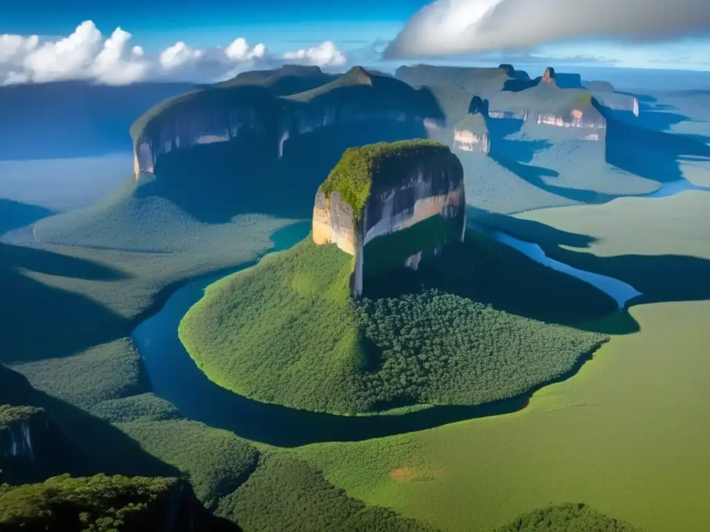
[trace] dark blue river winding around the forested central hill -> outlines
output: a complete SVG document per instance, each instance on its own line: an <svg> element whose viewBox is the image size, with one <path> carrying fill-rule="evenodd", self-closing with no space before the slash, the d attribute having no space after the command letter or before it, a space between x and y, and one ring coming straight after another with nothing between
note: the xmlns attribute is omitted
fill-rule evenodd
<svg viewBox="0 0 710 532"><path fill-rule="evenodd" d="M666 184L645 197L665 197L696 187L686 183ZM555 270L574 275L609 294L624 309L630 299L640 295L630 285L606 277L577 270L552 260L535 243L483 226L471 224L488 238L510 245L532 260ZM272 251L285 250L305 238L310 222L297 223L276 231L271 240ZM395 434L420 431L454 421L508 414L525 408L532 392L479 406L431 406L408 414L373 416L336 416L265 404L241 397L210 381L192 361L178 338L178 324L190 307L204 294L204 289L230 273L256 264L253 261L234 270L199 277L173 293L160 311L143 321L133 331L133 340L145 361L153 392L175 404L189 419L209 426L224 428L249 440L293 447L325 441L360 441ZM555 382L574 375L588 359L581 359L567 374ZM547 382L540 387L551 384ZM536 389L539 389L537 387Z"/></svg>

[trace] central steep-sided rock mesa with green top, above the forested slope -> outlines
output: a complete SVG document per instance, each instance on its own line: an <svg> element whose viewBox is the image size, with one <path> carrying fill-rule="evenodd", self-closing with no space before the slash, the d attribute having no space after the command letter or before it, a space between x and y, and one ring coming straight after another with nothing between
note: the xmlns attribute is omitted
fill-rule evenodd
<svg viewBox="0 0 710 532"><path fill-rule="evenodd" d="M464 171L446 145L403 140L349 148L318 189L312 238L354 255L351 290L416 270L466 227Z"/></svg>

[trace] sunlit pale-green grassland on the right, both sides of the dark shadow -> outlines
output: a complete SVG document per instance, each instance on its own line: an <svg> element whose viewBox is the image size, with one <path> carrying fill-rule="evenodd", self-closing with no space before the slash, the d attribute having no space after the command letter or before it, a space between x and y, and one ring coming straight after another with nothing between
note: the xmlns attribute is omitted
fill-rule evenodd
<svg viewBox="0 0 710 532"><path fill-rule="evenodd" d="M584 253L644 255L635 269L643 280L658 255L710 259L708 212L710 195L684 193L524 218L596 237ZM291 452L351 496L386 501L444 530L486 530L565 501L647 532L702 530L710 495L710 301L643 304L630 316L639 332L613 336L578 375L535 393L523 411Z"/></svg>

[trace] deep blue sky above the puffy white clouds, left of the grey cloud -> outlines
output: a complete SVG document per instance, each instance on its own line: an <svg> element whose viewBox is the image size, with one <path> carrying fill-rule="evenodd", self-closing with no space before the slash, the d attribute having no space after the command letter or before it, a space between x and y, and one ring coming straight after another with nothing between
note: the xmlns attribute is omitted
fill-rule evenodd
<svg viewBox="0 0 710 532"><path fill-rule="evenodd" d="M65 36L80 22L92 20L103 33L121 26L146 51L175 40L208 47L236 37L279 50L322 40L393 38L425 4L425 0L28 0L3 6L0 34ZM28 16L32 12L42 16ZM349 45L346 48L356 44L343 43Z"/></svg>

